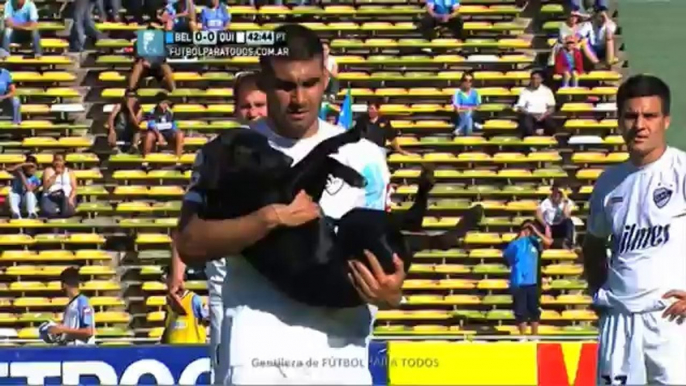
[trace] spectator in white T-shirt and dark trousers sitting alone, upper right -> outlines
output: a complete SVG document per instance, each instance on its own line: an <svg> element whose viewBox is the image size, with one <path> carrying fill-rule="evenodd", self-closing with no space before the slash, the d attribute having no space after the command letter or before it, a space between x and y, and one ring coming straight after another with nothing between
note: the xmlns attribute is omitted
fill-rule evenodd
<svg viewBox="0 0 686 386"><path fill-rule="evenodd" d="M524 137L555 134L555 95L543 84L543 73L531 73L529 86L519 94L514 110L519 114L519 131Z"/></svg>

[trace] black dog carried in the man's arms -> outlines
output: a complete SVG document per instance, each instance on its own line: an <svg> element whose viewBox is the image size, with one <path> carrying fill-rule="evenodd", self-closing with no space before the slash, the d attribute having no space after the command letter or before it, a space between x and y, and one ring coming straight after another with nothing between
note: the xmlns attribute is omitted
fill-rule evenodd
<svg viewBox="0 0 686 386"><path fill-rule="evenodd" d="M351 186L363 187L364 178L359 173L329 157L341 146L359 139L358 131L349 130L323 141L291 166L292 160L273 149L261 134L247 129L232 130L202 149L204 158L197 187L206 193L206 206L200 216L243 216L266 205L288 204L301 190L319 201L329 175ZM453 233L414 236L406 242L400 230L421 228L433 187L432 175L423 173L417 201L404 215L353 209L337 221L320 218L299 227L276 229L245 249L243 255L258 272L295 300L323 307L360 305L362 300L347 278L349 259L366 261L362 251L370 250L390 273L394 269L392 255L396 252L407 270L414 251L425 247L447 249L457 242L462 228L471 229L472 223L479 221L463 221L461 224L466 225Z"/></svg>

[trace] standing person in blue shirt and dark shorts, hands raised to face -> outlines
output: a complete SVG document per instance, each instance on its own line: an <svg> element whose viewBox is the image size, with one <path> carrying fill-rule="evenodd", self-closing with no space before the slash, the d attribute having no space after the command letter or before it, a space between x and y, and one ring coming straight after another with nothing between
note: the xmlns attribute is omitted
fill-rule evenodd
<svg viewBox="0 0 686 386"><path fill-rule="evenodd" d="M527 323L531 324L531 334L538 335L541 318L540 284L541 252L550 247L553 240L550 231L542 233L533 221L524 221L517 238L510 241L503 257L510 267L510 291L519 333L526 334Z"/></svg>

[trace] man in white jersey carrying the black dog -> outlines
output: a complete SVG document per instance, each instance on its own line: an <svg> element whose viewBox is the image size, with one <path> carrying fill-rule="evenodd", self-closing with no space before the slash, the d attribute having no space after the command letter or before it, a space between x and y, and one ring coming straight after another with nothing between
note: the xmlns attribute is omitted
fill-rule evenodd
<svg viewBox="0 0 686 386"><path fill-rule="evenodd" d="M301 25L283 25L275 32L286 36L277 43L277 51L288 54L260 58L260 87L267 94L268 117L251 128L299 162L317 144L344 130L318 119L326 75L316 33ZM289 205L269 205L236 219L210 221L195 215L180 219L175 240L187 263L231 256L226 259L231 277L224 281L222 295L225 307L227 301L237 307L230 329L222 334L222 350L230 351L226 385L372 384L370 330L376 307L400 303L405 274L399 258L391 275L383 272L373 255L366 257L374 269L351 263L351 281L367 304L332 309L294 301L240 256L277 227L298 226L322 212L340 218L354 207L383 208L390 173L376 145L361 140L341 147L334 157L367 177L367 186L354 188L332 178L319 203L299 194ZM225 359L220 354L220 361Z"/></svg>

